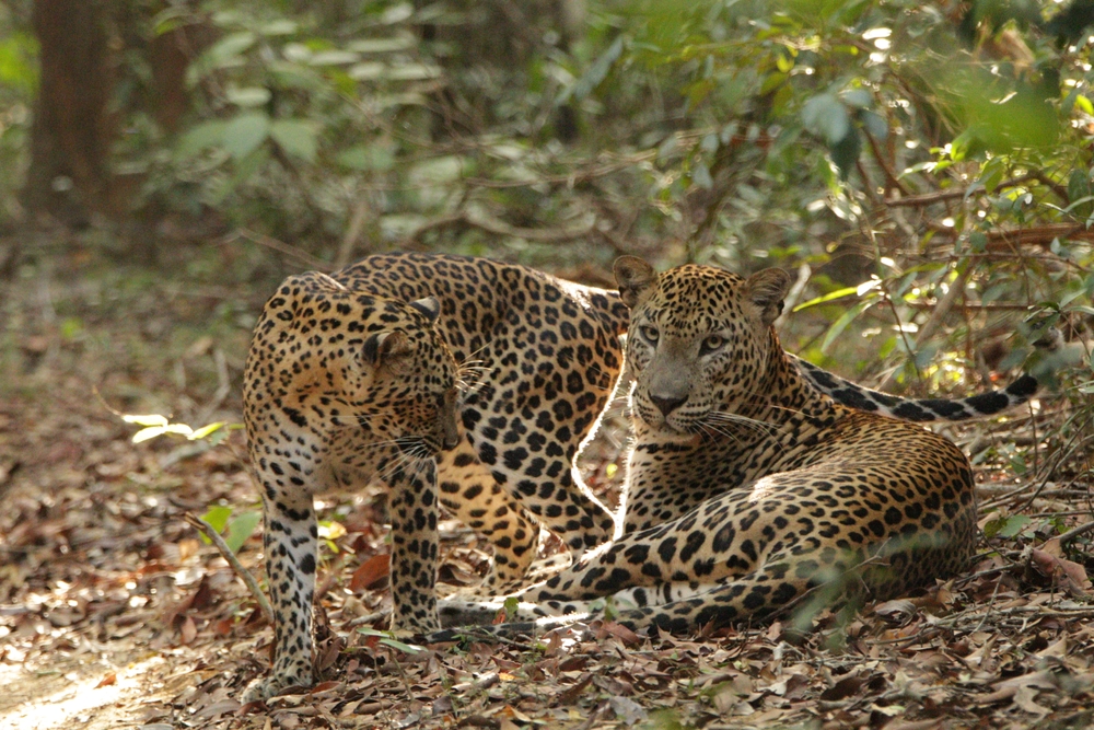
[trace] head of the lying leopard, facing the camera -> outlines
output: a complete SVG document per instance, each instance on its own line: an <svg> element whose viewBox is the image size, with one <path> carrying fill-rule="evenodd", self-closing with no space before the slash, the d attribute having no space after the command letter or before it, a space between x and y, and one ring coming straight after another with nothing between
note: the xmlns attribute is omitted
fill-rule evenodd
<svg viewBox="0 0 1094 730"><path fill-rule="evenodd" d="M679 266L659 275L624 256L615 276L631 310L627 358L641 421L670 440L689 439L714 412L741 413L755 401L776 346L771 324L790 286L785 271L745 279Z"/></svg>

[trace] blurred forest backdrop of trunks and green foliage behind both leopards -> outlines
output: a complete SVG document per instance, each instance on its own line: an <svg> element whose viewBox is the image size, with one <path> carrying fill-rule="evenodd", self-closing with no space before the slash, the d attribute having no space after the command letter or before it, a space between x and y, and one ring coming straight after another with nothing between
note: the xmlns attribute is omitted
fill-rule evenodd
<svg viewBox="0 0 1094 730"><path fill-rule="evenodd" d="M624 253L781 266L789 349L894 391L1025 362L1085 428L1089 352L1027 357L1094 324L1092 22L1089 0L2 0L0 274L97 273L113 316L139 282L203 286L245 349L282 276L371 253L604 286ZM208 368L221 387L241 357Z"/></svg>

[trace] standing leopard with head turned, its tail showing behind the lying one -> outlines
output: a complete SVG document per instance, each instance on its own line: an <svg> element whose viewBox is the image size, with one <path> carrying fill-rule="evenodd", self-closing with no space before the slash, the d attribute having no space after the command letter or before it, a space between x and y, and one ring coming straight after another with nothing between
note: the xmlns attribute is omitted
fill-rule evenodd
<svg viewBox="0 0 1094 730"><path fill-rule="evenodd" d="M485 594L525 580L540 525L574 555L610 540L614 515L572 466L618 380L628 321L616 292L479 258L393 254L290 277L266 305L244 373L277 651L271 677L248 698L311 684L318 491L379 478L392 486L393 507L405 502L393 519L392 627L412 634L439 625L435 501L491 543ZM464 381L455 394L453 359ZM905 417L990 414L1028 397L1020 380L961 402L903 401L790 362L839 401ZM368 390L376 383L387 390ZM442 396L437 413L455 412L455 438L437 431L428 408L408 409ZM399 465L400 455L414 461ZM628 531L638 526L630 515L645 519L648 494L632 495Z"/></svg>

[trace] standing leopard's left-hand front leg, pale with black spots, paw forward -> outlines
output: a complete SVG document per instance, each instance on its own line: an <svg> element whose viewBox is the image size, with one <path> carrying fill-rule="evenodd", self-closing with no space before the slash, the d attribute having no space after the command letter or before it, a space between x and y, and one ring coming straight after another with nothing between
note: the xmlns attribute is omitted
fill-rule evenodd
<svg viewBox="0 0 1094 730"><path fill-rule="evenodd" d="M263 542L274 607L274 669L252 684L244 702L312 684L312 596L317 530L312 496L303 489L263 488Z"/></svg>

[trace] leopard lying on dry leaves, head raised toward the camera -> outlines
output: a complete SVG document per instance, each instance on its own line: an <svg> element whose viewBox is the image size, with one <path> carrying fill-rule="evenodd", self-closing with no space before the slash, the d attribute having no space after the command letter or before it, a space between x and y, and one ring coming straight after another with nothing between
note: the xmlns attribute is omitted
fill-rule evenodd
<svg viewBox="0 0 1094 730"><path fill-rule="evenodd" d="M968 460L810 386L771 326L785 273L659 276L624 257L616 277L632 310L630 532L516 593L517 618L589 614L609 598L627 626L683 631L761 619L824 584L885 598L965 567ZM441 611L464 623L503 605L453 599Z"/></svg>

